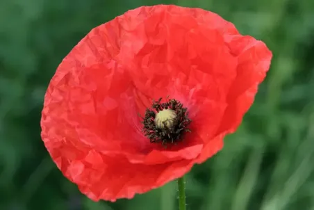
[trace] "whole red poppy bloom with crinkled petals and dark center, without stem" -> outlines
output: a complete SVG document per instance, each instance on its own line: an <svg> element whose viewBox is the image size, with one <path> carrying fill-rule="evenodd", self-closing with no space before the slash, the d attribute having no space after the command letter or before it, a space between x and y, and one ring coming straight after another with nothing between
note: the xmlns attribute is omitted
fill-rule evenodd
<svg viewBox="0 0 314 210"><path fill-rule="evenodd" d="M44 145L92 200L145 193L222 149L271 58L263 42L215 13L129 10L92 29L58 67L44 98ZM162 110L181 127L158 127Z"/></svg>

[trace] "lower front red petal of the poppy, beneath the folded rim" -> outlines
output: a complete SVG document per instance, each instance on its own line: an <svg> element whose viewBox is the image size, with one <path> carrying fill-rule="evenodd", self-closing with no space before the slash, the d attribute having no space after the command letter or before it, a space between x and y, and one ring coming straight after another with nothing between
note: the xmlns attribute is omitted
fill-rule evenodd
<svg viewBox="0 0 314 210"><path fill-rule="evenodd" d="M72 162L65 172L65 176L78 184L80 191L94 201L131 199L135 193L146 193L182 177L193 165L193 161L187 160L140 165L123 158L103 156L103 159L101 168L78 161Z"/></svg>

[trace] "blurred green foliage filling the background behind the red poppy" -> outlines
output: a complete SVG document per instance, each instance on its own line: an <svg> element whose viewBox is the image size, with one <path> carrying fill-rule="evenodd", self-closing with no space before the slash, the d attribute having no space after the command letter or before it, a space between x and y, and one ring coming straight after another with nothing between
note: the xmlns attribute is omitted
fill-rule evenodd
<svg viewBox="0 0 314 210"><path fill-rule="evenodd" d="M158 3L212 10L274 54L240 129L187 175L188 209L314 210L314 1L308 0L1 0L1 210L178 209L175 182L133 200L88 200L40 140L44 92L63 57L95 26Z"/></svg>

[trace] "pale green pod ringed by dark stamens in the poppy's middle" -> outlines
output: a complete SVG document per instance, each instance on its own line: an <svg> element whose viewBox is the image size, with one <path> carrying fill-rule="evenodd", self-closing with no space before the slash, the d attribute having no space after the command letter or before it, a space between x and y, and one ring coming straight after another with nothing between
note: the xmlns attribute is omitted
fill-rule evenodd
<svg viewBox="0 0 314 210"><path fill-rule="evenodd" d="M190 132L188 125L191 120L188 118L187 108L176 99L166 99L161 103L162 98L157 102L153 101L152 108L147 108L142 124L144 136L149 138L151 143L177 143L183 138L185 132Z"/></svg>

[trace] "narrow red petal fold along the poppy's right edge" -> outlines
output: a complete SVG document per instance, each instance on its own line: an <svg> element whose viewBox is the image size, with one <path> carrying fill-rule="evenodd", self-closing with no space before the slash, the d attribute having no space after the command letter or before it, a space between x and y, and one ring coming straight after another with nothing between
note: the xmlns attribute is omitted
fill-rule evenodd
<svg viewBox="0 0 314 210"><path fill-rule="evenodd" d="M266 45L250 36L226 35L226 40L231 53L238 57L238 67L218 134L236 131L243 115L253 104L258 86L265 79L272 60L272 52Z"/></svg>

